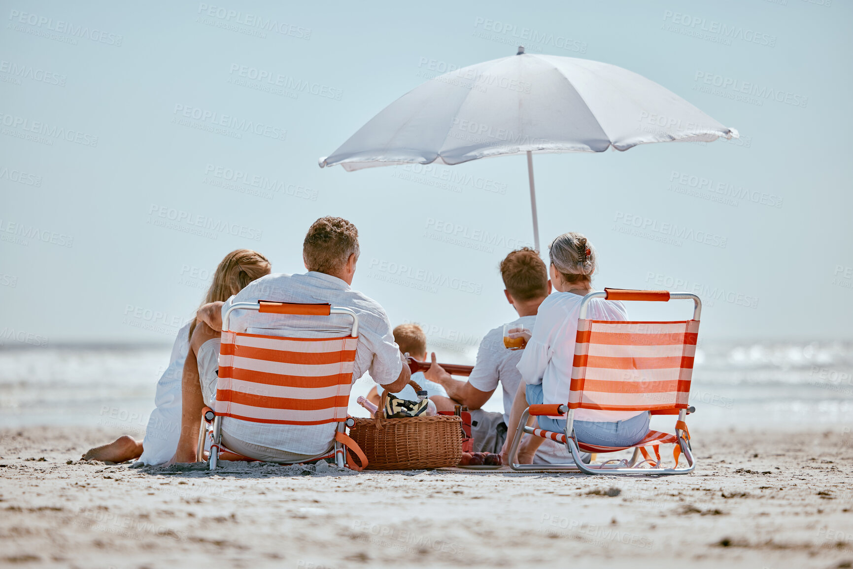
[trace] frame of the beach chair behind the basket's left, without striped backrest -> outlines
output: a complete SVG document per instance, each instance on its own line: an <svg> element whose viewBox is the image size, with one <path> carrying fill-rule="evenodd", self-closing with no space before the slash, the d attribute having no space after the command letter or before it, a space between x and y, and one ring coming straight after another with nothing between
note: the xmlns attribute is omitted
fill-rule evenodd
<svg viewBox="0 0 853 569"><path fill-rule="evenodd" d="M258 311L258 312L271 312L275 314L289 314L289 315L300 315L300 316L329 316L329 315L345 315L351 316L352 325L349 336L344 337L336 337L336 338L323 338L323 339L288 339L283 336L258 336L257 334L242 334L235 333L229 329L229 316L231 312L236 310L246 310L246 311ZM225 334L233 334L232 337L238 336L252 336L255 338L269 338L271 340L302 340L302 341L335 341L341 342L342 347L347 346L347 340L350 340L349 345L351 345L351 358L350 361L353 361L355 358L355 350L358 341L358 315L355 311L352 311L349 308L345 308L342 306L332 306L328 304L299 304L299 303L286 303L286 302L275 302L270 300L258 300L258 302L238 302L233 305L230 305L228 310L225 311L223 316L223 339ZM342 350L343 351L343 350ZM222 368L223 356L220 351L220 369ZM220 380L222 380L222 376L220 376ZM219 386L218 386L219 391ZM346 391L346 398L349 399L349 390ZM229 450L226 450L222 446L222 420L223 416L227 415L227 413L223 413L223 405L217 399L216 404L217 410L210 409L206 407L202 410L201 416L201 425L199 430L199 445L198 450L196 451L196 459L199 462L205 462L205 439L208 434L212 437L212 445L209 454L209 467L210 470L214 470L217 467L218 460L222 458L223 460L255 460L246 456L240 456ZM345 409L345 406L344 406ZM351 417L340 417L341 412L338 410L334 412L334 416L330 416L328 421L323 422L332 422L336 421L337 427L335 429L335 438L334 438L334 460L335 464L338 467L353 467L357 470L361 470L363 467L367 466L367 459L364 457L363 452L358 449L357 444L355 444L349 437L345 434L346 427L352 427L355 424L355 421L352 420ZM287 409L281 409L281 415L287 415ZM287 421L263 421L254 419L256 422L287 422ZM294 423L299 424L299 423ZM304 423L303 423L304 424ZM209 427L209 431L208 431ZM361 466L356 467L351 462L346 460L347 450L351 450L355 452L361 461ZM310 462L313 460L326 458L330 456L328 452L322 453L320 455L311 457L309 459L302 459L296 462ZM296 463L290 462L290 463ZM287 462L282 462L287 463Z"/></svg>

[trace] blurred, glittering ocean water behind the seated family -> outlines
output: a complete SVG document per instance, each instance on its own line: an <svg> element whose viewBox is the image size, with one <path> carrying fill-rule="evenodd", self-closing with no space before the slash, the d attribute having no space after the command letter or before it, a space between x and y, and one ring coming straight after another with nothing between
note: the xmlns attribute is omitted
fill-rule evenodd
<svg viewBox="0 0 853 569"><path fill-rule="evenodd" d="M0 427L113 427L142 437L168 347L0 349ZM439 361L473 363L473 351ZM353 387L355 403L372 385ZM853 342L704 343L697 351L690 402L695 427L826 430L853 425ZM502 410L500 390L485 409ZM669 430L672 418L655 417Z"/></svg>

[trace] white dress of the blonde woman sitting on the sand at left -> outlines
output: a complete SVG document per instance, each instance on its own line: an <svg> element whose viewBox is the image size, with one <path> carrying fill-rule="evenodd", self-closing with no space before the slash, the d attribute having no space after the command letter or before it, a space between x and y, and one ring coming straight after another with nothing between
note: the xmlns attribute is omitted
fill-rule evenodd
<svg viewBox="0 0 853 569"><path fill-rule="evenodd" d="M175 344L171 347L169 367L157 382L155 408L148 418L145 439L142 441L142 456L139 457L145 464L169 462L177 452L177 440L181 436L181 380L183 363L189 353L190 323L187 322L177 331Z"/></svg>

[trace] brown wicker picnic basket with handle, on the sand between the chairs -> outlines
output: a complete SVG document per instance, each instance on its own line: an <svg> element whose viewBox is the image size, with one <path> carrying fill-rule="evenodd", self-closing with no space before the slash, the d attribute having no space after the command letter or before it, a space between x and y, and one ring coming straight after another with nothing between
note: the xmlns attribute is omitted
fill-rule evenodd
<svg viewBox="0 0 853 569"><path fill-rule="evenodd" d="M421 391L409 380L415 391ZM456 415L386 419L388 392L374 418L353 417L350 437L368 457L368 470L455 467L462 456L462 420Z"/></svg>

